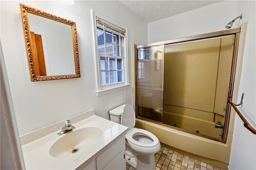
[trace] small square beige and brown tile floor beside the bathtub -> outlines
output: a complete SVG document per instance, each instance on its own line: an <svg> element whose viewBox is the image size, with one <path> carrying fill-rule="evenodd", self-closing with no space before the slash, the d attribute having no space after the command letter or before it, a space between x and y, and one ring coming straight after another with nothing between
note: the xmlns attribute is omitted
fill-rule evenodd
<svg viewBox="0 0 256 170"><path fill-rule="evenodd" d="M220 170L192 157L161 146L155 154L156 170ZM135 170L126 164L126 170Z"/></svg>

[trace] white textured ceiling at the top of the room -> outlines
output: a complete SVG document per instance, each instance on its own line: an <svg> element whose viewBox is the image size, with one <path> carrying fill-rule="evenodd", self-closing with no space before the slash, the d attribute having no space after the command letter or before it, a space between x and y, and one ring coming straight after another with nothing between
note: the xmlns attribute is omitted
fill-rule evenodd
<svg viewBox="0 0 256 170"><path fill-rule="evenodd" d="M222 0L119 0L146 22L153 22Z"/></svg>

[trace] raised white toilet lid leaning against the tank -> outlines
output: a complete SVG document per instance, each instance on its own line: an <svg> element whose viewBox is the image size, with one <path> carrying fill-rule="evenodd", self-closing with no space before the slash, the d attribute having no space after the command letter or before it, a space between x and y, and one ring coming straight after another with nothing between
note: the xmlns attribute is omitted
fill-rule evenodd
<svg viewBox="0 0 256 170"><path fill-rule="evenodd" d="M121 116L121 125L124 125L129 129L135 126L135 113L130 104L124 106L124 111Z"/></svg>

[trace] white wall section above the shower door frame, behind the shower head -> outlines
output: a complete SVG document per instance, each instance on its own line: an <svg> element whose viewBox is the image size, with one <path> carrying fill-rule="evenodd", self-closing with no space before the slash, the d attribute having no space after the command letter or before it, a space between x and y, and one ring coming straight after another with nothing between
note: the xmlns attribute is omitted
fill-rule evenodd
<svg viewBox="0 0 256 170"><path fill-rule="evenodd" d="M237 1L224 1L148 24L148 43L225 30L236 17ZM228 9L228 10L227 10ZM239 26L239 20L232 28Z"/></svg>

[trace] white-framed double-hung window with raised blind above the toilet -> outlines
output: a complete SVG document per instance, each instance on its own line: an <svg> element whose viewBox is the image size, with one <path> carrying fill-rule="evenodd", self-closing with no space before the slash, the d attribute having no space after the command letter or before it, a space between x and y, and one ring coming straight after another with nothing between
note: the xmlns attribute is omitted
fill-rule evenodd
<svg viewBox="0 0 256 170"><path fill-rule="evenodd" d="M96 16L99 90L126 84L125 30Z"/></svg>

